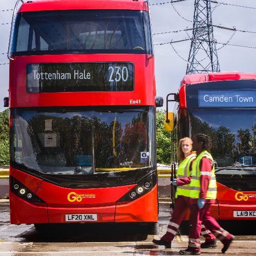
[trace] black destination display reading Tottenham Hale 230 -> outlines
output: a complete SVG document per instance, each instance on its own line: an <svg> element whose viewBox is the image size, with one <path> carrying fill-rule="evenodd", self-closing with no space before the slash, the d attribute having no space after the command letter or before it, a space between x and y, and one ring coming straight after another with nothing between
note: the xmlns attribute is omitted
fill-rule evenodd
<svg viewBox="0 0 256 256"><path fill-rule="evenodd" d="M134 91L133 62L27 65L27 93L131 91Z"/></svg>

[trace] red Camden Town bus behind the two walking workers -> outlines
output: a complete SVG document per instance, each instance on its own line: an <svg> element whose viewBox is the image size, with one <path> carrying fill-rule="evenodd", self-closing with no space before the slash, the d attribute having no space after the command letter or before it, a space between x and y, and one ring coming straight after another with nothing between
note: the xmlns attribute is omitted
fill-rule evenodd
<svg viewBox="0 0 256 256"><path fill-rule="evenodd" d="M204 133L212 140L217 203L211 215L217 220L256 219L255 80L255 73L191 74L172 94L174 100L167 96L177 101L165 122L172 131L172 163L178 162L179 139Z"/></svg>

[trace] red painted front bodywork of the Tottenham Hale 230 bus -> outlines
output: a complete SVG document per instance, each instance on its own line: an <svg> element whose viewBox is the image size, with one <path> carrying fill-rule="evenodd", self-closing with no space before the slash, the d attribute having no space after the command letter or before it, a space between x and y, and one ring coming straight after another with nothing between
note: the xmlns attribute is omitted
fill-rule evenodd
<svg viewBox="0 0 256 256"><path fill-rule="evenodd" d="M24 3L20 12L53 10L141 10L148 11L144 0L36 1ZM11 56L9 108L69 106L153 106L155 108L154 56L148 54L56 54ZM131 92L60 92L27 93L26 67L29 63L109 62L134 63L134 91ZM10 127L13 125L12 114ZM155 142L154 142L155 143ZM155 153L153 153L155 157ZM155 170L156 172L156 170ZM10 177L31 190L45 203L29 202L10 191L11 224L61 223L66 215L97 214L95 222L157 222L157 184L136 200L117 202L137 184L115 187L67 188L28 174L10 164ZM11 184L10 184L11 186ZM75 222L86 222L77 220ZM90 220L92 221L92 220ZM74 222L74 221L72 221Z"/></svg>

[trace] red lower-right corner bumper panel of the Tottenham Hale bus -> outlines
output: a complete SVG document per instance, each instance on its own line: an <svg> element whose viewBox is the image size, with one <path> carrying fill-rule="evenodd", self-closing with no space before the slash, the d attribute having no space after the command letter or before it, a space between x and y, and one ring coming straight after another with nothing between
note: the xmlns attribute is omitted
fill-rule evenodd
<svg viewBox="0 0 256 256"><path fill-rule="evenodd" d="M137 200L126 204L117 204L115 222L157 222L157 204L156 185L150 192Z"/></svg>

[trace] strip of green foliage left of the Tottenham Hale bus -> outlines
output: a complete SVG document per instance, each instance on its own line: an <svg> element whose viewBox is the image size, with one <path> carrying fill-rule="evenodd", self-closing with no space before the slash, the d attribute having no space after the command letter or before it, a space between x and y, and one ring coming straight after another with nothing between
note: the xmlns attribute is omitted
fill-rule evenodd
<svg viewBox="0 0 256 256"><path fill-rule="evenodd" d="M0 112L0 165L9 165L9 109Z"/></svg>

